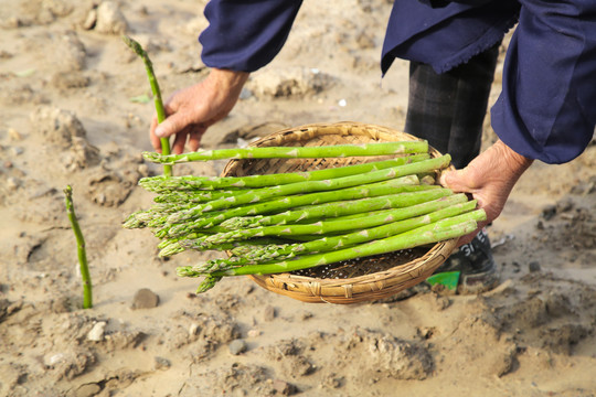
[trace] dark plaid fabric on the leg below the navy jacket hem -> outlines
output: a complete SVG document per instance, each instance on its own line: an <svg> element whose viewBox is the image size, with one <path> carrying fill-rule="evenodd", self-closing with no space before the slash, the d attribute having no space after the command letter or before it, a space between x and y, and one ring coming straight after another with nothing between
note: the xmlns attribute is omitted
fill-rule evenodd
<svg viewBox="0 0 596 397"><path fill-rule="evenodd" d="M458 169L480 152L499 45L443 74L418 62L409 65L405 131L449 153Z"/></svg>

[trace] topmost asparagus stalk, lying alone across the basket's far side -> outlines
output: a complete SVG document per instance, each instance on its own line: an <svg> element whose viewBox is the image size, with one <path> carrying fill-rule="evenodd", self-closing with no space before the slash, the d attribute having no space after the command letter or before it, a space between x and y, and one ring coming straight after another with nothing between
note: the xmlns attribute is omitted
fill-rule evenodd
<svg viewBox="0 0 596 397"><path fill-rule="evenodd" d="M345 158L362 155L397 155L426 152L428 152L428 142L426 141L401 141L321 147L252 147L215 149L199 150L191 153L169 155L153 152L143 152L143 157L152 162L162 164L174 164L191 161L209 161L223 159Z"/></svg>

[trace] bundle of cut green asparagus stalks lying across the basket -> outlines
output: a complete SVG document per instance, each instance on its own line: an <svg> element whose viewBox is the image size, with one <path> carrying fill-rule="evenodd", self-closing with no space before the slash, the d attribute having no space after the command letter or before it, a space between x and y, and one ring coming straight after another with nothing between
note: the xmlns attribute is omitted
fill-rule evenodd
<svg viewBox="0 0 596 397"><path fill-rule="evenodd" d="M139 184L156 193L155 204L129 215L125 227L150 228L161 240L160 256L226 251L226 258L177 269L204 277L203 292L224 276L288 272L457 238L486 218L476 201L428 183L450 157L432 158L424 141L145 155L173 164L387 154L396 157L307 172L145 178Z"/></svg>

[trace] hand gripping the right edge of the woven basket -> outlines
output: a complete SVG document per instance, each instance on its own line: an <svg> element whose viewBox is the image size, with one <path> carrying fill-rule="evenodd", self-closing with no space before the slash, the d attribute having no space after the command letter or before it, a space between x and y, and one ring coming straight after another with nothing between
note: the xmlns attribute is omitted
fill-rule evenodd
<svg viewBox="0 0 596 397"><path fill-rule="evenodd" d="M465 169L441 174L441 185L454 192L471 194L487 213L487 221L480 223L476 232L461 237L458 245L471 242L480 228L501 214L511 190L532 161L499 140Z"/></svg>

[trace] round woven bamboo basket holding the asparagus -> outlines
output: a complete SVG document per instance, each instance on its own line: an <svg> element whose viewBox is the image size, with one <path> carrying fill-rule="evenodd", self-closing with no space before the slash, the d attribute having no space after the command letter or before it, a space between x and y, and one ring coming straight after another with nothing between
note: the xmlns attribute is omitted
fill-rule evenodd
<svg viewBox="0 0 596 397"><path fill-rule="evenodd" d="M251 146L307 147L352 144L418 138L386 127L359 122L312 124L264 137ZM440 153L429 148L430 155ZM349 165L383 158L251 159L231 160L222 175L244 176L317 170ZM438 176L438 175L437 175ZM304 302L359 303L386 299L426 278L449 257L457 239L422 247L407 255L380 255L338 264L333 269L248 276L257 285ZM331 275L331 277L330 277Z"/></svg>

